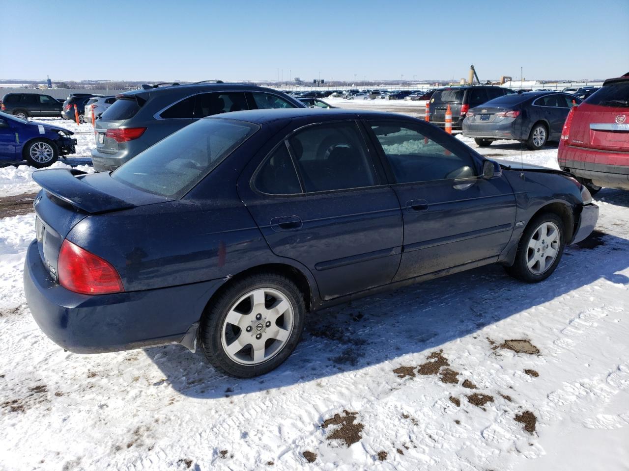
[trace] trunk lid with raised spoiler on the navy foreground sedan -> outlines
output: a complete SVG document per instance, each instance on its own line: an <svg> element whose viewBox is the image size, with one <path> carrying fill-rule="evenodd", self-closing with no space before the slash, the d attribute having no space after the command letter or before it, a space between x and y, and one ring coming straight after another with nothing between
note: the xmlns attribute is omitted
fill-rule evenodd
<svg viewBox="0 0 629 471"><path fill-rule="evenodd" d="M33 172L33 180L43 188L34 203L37 246L44 266L55 281L61 244L82 219L168 201L126 187L109 173L87 175L80 170L55 168Z"/></svg>

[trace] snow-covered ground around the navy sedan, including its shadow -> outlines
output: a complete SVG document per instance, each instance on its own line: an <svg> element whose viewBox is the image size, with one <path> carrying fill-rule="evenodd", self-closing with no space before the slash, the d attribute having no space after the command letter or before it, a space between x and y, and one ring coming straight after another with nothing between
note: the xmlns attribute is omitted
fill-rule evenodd
<svg viewBox="0 0 629 471"><path fill-rule="evenodd" d="M247 380L178 345L64 352L25 305L33 214L1 219L0 469L627 469L629 192L596 200L598 234L543 283L486 267L321 311Z"/></svg>

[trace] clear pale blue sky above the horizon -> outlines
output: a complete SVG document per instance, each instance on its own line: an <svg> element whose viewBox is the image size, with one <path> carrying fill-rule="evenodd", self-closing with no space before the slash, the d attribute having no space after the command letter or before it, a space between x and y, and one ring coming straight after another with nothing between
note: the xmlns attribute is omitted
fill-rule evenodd
<svg viewBox="0 0 629 471"><path fill-rule="evenodd" d="M481 80L519 78L520 67L531 79L629 71L629 0L0 0L0 18L0 78L447 79L472 63Z"/></svg>

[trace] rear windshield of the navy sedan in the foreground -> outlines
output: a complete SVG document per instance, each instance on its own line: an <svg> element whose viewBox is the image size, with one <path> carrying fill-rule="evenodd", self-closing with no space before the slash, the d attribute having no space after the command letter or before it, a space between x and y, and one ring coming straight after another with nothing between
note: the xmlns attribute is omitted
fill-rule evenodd
<svg viewBox="0 0 629 471"><path fill-rule="evenodd" d="M258 129L245 121L199 119L138 154L111 177L154 195L180 198Z"/></svg>

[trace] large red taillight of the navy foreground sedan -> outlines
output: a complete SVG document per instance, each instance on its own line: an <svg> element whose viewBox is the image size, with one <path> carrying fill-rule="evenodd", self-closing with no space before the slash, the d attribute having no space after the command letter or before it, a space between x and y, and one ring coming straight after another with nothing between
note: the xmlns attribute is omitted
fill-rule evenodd
<svg viewBox="0 0 629 471"><path fill-rule="evenodd" d="M125 291L111 264L65 239L57 263L59 284L82 295L107 295Z"/></svg>

